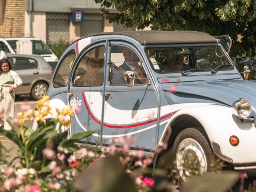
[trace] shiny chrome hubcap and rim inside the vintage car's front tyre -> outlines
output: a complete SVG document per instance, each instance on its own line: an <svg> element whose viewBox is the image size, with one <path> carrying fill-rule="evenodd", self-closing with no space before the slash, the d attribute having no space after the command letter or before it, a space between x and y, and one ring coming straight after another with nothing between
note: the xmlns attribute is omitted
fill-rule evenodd
<svg viewBox="0 0 256 192"><path fill-rule="evenodd" d="M203 148L191 138L183 140L176 152L178 172L183 180L190 176L202 175L207 171L207 160Z"/></svg>

